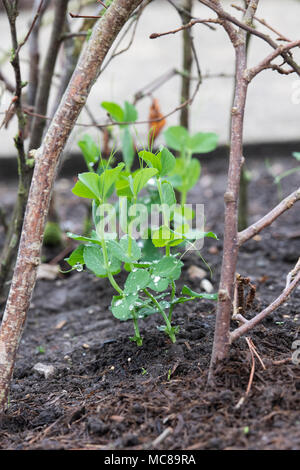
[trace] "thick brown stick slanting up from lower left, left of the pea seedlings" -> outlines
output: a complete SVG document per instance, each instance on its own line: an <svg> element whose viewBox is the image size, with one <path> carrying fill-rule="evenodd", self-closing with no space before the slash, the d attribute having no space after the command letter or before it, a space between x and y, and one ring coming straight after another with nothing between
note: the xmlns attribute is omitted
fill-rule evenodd
<svg viewBox="0 0 300 470"><path fill-rule="evenodd" d="M16 268L0 330L0 411L7 402L17 347L35 286L43 231L59 157L86 103L101 64L129 15L142 0L115 0L93 29L53 121L36 152Z"/></svg>

